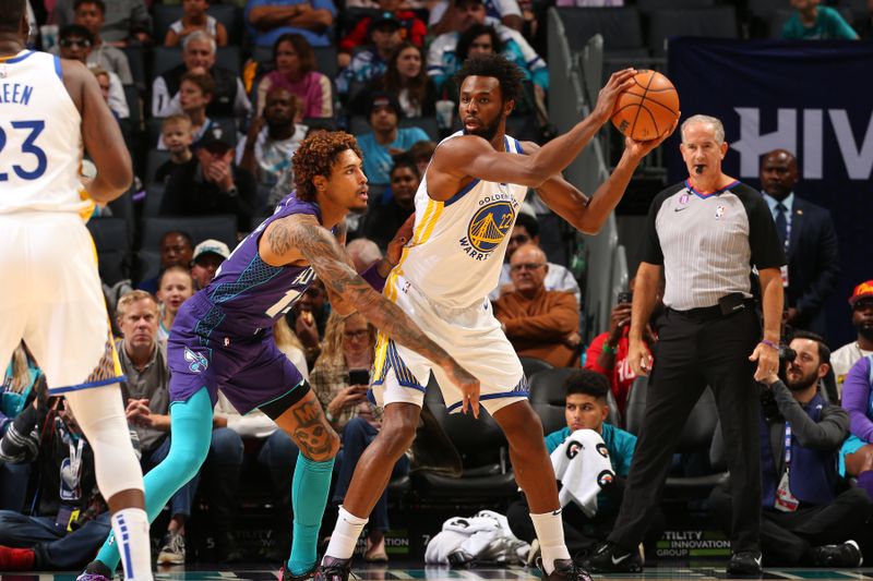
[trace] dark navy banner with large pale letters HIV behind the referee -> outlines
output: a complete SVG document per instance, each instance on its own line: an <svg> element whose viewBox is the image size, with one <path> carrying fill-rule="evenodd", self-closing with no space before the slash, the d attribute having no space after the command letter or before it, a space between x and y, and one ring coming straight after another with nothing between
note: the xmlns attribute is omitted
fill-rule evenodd
<svg viewBox="0 0 873 581"><path fill-rule="evenodd" d="M725 173L760 187L761 156L794 153L797 195L830 210L839 240L828 339L853 340L847 299L873 279L873 43L674 38L667 75L683 120L725 123ZM678 134L665 145L669 183L687 177Z"/></svg>

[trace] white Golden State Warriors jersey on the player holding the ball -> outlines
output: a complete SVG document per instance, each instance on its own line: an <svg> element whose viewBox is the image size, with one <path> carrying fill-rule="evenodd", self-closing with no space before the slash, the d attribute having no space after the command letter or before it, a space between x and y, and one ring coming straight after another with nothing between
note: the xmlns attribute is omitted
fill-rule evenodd
<svg viewBox="0 0 873 581"><path fill-rule="evenodd" d="M463 135L457 132L449 140ZM507 153L522 145L505 136ZM438 146L439 147L439 146ZM416 192L412 240L404 249L397 276L430 300L450 308L481 302L497 287L526 185L474 180L445 202L428 195L427 174Z"/></svg>

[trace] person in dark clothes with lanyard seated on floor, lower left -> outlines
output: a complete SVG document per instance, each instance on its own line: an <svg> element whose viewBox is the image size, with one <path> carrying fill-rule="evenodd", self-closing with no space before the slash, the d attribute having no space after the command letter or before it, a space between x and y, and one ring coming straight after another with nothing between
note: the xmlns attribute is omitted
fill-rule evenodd
<svg viewBox="0 0 873 581"><path fill-rule="evenodd" d="M62 397L46 400L45 385L38 385L27 403L0 440L0 461L34 463L38 500L33 516L0 510L0 568L81 567L111 531L109 511L97 489L94 452ZM135 449L135 433L131 436ZM71 465L79 470L70 470Z"/></svg>

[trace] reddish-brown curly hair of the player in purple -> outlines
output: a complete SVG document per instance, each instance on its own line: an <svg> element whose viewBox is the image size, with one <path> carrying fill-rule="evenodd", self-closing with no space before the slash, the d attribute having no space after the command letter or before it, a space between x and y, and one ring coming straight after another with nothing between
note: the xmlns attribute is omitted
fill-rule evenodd
<svg viewBox="0 0 873 581"><path fill-rule="evenodd" d="M291 158L294 184L299 199L315 201L318 192L312 179L315 175L330 178L336 158L346 149L351 149L363 159L358 142L345 131L313 131L300 142L300 147Z"/></svg>

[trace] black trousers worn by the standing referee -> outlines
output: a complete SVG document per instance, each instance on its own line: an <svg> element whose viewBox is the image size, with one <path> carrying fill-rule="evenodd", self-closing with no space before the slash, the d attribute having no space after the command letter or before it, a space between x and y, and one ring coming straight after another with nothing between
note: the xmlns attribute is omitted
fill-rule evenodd
<svg viewBox="0 0 873 581"><path fill-rule="evenodd" d="M658 329L646 411L615 528L609 541L633 550L660 499L682 425L706 386L721 419L732 499L731 546L760 550L758 389L749 355L761 338L751 305L721 316L718 307L667 310Z"/></svg>

